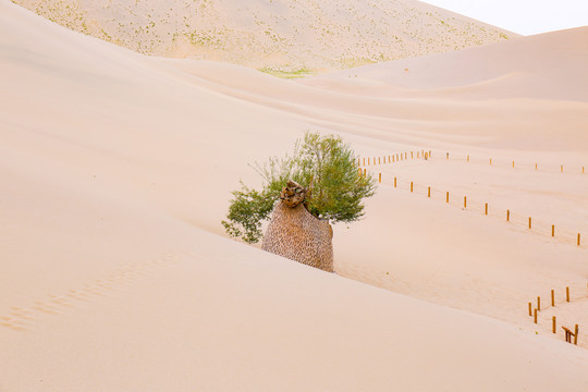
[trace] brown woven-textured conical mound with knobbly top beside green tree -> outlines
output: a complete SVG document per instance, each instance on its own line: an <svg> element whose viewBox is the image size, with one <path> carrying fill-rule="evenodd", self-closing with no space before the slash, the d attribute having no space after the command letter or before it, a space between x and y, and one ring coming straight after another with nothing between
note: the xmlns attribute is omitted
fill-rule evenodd
<svg viewBox="0 0 588 392"><path fill-rule="evenodd" d="M333 230L306 210L308 189L293 181L282 189L261 249L321 270L333 271Z"/></svg>

